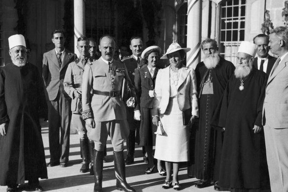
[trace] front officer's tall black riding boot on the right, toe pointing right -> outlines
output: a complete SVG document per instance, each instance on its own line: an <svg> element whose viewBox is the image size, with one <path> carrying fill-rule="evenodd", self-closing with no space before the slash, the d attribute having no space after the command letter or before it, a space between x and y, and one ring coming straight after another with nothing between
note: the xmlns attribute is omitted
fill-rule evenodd
<svg viewBox="0 0 288 192"><path fill-rule="evenodd" d="M113 152L114 154L114 166L115 166L115 176L116 176L116 189L123 190L124 192L136 192L135 189L129 186L126 182L125 176L125 162L124 153Z"/></svg>

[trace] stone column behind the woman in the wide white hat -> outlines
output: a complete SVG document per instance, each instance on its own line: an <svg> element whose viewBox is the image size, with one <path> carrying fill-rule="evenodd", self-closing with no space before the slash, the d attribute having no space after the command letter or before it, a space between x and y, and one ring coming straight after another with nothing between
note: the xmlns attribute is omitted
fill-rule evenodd
<svg viewBox="0 0 288 192"><path fill-rule="evenodd" d="M187 9L187 67L196 68L201 60L201 22L202 22L202 0L188 0Z"/></svg>

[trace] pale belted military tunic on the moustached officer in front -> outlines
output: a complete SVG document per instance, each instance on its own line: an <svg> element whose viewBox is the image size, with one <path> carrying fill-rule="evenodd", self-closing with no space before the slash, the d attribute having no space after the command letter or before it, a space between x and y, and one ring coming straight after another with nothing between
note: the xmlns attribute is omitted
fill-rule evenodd
<svg viewBox="0 0 288 192"><path fill-rule="evenodd" d="M92 94L91 89L96 91L121 91L123 79L128 82L133 96L135 96L132 84L125 65L113 60L111 64L116 76L109 73L109 66L101 58L85 65L82 81L82 115L91 115L95 121L123 120L126 119L126 108L120 96L109 97ZM92 113L93 112L93 113Z"/></svg>

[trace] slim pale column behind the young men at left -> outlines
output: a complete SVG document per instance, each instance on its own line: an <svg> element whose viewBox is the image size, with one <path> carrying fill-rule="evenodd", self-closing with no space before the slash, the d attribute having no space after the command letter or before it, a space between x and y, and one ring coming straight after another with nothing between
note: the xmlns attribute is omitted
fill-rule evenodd
<svg viewBox="0 0 288 192"><path fill-rule="evenodd" d="M85 34L85 2L84 0L74 0L74 53L78 57L77 39Z"/></svg>

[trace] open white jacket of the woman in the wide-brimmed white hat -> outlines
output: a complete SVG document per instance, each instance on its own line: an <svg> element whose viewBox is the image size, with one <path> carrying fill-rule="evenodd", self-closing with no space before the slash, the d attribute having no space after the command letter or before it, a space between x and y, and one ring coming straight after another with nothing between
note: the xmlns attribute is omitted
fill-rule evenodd
<svg viewBox="0 0 288 192"><path fill-rule="evenodd" d="M180 111L192 109L199 116L195 71L182 65L177 85L177 101ZM155 82L152 115L164 114L170 97L170 67L160 69Z"/></svg>

